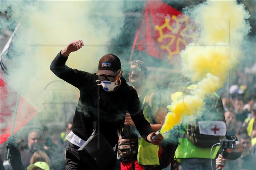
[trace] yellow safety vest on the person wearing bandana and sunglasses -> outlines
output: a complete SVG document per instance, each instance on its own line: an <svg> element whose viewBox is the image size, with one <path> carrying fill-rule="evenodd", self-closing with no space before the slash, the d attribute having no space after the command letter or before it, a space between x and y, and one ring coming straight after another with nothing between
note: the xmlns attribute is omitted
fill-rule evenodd
<svg viewBox="0 0 256 170"><path fill-rule="evenodd" d="M145 96L144 101L142 103L145 104L146 98L148 96ZM153 124L153 121L151 120L151 116L149 118L147 117L148 114L148 108L144 107L143 114L145 119L150 123ZM149 113L152 114L152 113ZM151 143L146 142L144 139L139 137L138 139L138 163L140 165L159 165L159 158L158 158L158 150L159 146L158 145L153 145Z"/></svg>

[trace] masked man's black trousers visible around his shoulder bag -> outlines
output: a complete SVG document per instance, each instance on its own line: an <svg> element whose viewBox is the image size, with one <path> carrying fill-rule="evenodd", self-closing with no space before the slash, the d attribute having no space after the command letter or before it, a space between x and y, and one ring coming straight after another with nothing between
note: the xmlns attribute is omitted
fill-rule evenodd
<svg viewBox="0 0 256 170"><path fill-rule="evenodd" d="M66 149L66 170L95 170L90 168L92 160L83 160L81 152L78 152L79 147L74 144L69 144ZM120 162L116 159L106 170L120 170Z"/></svg>

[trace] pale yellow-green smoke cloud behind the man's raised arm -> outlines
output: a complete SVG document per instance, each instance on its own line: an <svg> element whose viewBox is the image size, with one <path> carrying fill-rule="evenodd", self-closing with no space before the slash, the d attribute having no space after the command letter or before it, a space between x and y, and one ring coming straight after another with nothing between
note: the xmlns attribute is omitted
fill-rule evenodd
<svg viewBox="0 0 256 170"><path fill-rule="evenodd" d="M68 67L95 72L107 45L124 25L123 1L4 1L1 12L11 16L1 26L20 22L11 48L8 83L39 112L40 118L63 117L64 104L76 103L79 91L49 69L53 58L73 40L84 47L71 53ZM106 6L108 11L106 12ZM11 10L10 10L11 9ZM1 18L2 19L2 18ZM23 66L23 67L22 67ZM72 108L70 110L74 110ZM23 113L26 114L26 113ZM58 118L55 116L54 118Z"/></svg>

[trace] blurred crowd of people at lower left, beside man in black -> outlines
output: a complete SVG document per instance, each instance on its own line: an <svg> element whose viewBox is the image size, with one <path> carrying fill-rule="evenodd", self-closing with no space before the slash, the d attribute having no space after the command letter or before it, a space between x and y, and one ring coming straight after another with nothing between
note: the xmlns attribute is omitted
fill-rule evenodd
<svg viewBox="0 0 256 170"><path fill-rule="evenodd" d="M30 129L25 139L9 137L6 148L10 149L10 163L3 162L3 157L1 157L1 169L35 170L41 168L49 170L50 167L56 170L65 169L65 149L68 141L63 136L70 132L71 127L70 122L66 125L66 131L59 135L57 143L53 142L46 126Z"/></svg>

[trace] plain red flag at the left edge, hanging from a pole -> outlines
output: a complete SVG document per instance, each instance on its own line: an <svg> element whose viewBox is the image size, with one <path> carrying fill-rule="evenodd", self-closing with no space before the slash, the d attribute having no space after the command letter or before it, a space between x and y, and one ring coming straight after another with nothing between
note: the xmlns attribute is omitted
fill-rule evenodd
<svg viewBox="0 0 256 170"><path fill-rule="evenodd" d="M12 123L14 121L15 107L18 97L18 92L8 86L8 83L3 80L3 77L3 74L1 74L0 144L4 143L7 138L11 136ZM29 104L22 96L20 96L13 134L15 134L25 124L27 124L36 114L37 110L31 104Z"/></svg>

